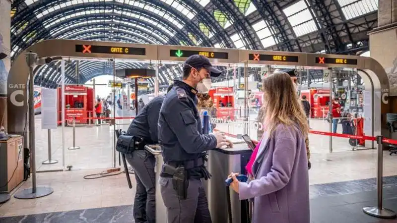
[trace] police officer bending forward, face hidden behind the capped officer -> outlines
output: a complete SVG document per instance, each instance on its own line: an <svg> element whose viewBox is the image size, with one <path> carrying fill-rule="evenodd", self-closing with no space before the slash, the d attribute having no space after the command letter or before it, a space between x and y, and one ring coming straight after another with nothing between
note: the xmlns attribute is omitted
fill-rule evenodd
<svg viewBox="0 0 397 223"><path fill-rule="evenodd" d="M168 88L171 90L172 86ZM136 192L133 204L135 223L156 223L156 190L154 156L144 149L146 144L157 144L157 120L165 96L152 99L133 119L126 135L138 138L140 143L126 159L135 171Z"/></svg>

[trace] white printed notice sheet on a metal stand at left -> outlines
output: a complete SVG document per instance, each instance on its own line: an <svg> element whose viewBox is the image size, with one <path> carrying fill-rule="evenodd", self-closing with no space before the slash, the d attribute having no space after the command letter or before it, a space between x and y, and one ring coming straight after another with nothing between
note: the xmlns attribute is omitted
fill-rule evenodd
<svg viewBox="0 0 397 223"><path fill-rule="evenodd" d="M57 89L48 89L48 88L41 89L41 128L42 129L56 129L58 127L57 96L58 96Z"/></svg>

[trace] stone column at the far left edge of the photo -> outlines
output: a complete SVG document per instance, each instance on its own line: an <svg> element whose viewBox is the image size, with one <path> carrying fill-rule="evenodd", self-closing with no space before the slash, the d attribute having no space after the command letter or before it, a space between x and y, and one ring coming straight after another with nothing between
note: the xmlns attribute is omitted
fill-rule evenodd
<svg viewBox="0 0 397 223"><path fill-rule="evenodd" d="M11 67L11 1L0 0L0 126L7 130L7 78Z"/></svg>

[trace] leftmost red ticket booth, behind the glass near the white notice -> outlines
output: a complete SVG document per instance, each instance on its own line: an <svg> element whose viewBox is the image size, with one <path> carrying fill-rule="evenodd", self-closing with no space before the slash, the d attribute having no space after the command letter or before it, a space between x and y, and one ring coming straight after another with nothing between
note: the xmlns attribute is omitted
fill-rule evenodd
<svg viewBox="0 0 397 223"><path fill-rule="evenodd" d="M58 121L62 120L62 89L58 88L59 96L59 112ZM87 117L93 114L93 97L94 91L92 88L81 85L66 85L65 86L65 119L70 120L76 118L77 124L88 123ZM68 121L67 123L70 123Z"/></svg>

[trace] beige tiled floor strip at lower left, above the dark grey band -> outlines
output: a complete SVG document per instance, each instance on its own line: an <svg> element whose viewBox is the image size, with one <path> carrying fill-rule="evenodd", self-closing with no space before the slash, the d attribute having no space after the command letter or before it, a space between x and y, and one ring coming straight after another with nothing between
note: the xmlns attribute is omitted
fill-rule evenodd
<svg viewBox="0 0 397 223"><path fill-rule="evenodd" d="M1 205L0 216L131 205L134 190L128 188L125 174L99 179L83 179L84 175L100 173L102 170L37 173L38 186L50 186L54 189L54 193L32 200L11 197L10 201ZM131 177L131 180L134 184L134 177ZM20 189L30 187L29 180L22 184Z"/></svg>

